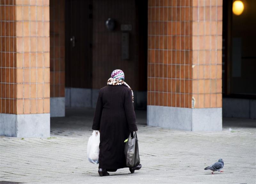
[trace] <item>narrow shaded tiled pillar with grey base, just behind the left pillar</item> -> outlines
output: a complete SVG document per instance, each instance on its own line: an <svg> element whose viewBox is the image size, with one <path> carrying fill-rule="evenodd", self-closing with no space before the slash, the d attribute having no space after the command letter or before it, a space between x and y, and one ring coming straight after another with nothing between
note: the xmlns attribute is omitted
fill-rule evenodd
<svg viewBox="0 0 256 184"><path fill-rule="evenodd" d="M65 0L50 1L51 117L65 116Z"/></svg>

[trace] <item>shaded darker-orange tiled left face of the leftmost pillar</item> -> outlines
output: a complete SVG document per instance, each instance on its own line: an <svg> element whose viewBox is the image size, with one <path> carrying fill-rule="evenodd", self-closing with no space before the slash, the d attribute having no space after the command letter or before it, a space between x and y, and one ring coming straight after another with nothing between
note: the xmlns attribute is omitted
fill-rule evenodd
<svg viewBox="0 0 256 184"><path fill-rule="evenodd" d="M0 113L16 113L16 11L15 1L0 4Z"/></svg>

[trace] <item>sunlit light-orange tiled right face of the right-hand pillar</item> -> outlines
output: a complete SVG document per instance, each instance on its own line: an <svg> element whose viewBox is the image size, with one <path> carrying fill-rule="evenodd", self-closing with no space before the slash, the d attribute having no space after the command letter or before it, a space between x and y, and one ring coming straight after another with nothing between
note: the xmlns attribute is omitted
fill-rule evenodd
<svg viewBox="0 0 256 184"><path fill-rule="evenodd" d="M195 107L222 107L222 1L193 1L192 6Z"/></svg>

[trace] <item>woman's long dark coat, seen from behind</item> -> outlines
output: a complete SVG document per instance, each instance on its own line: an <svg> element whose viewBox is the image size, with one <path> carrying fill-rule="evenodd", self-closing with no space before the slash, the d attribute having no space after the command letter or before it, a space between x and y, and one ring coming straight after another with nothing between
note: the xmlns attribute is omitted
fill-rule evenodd
<svg viewBox="0 0 256 184"><path fill-rule="evenodd" d="M92 129L100 130L99 168L115 171L127 167L124 140L138 130L131 89L124 85L100 89Z"/></svg>

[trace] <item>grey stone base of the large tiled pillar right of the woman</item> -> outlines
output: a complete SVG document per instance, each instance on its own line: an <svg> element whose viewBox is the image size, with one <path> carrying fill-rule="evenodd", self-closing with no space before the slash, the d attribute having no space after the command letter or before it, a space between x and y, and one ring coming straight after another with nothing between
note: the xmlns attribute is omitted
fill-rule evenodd
<svg viewBox="0 0 256 184"><path fill-rule="evenodd" d="M221 131L222 108L189 109L148 105L148 125L186 131Z"/></svg>

